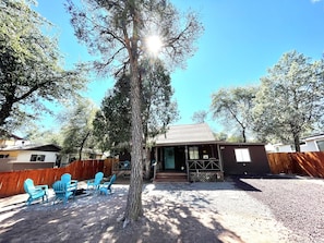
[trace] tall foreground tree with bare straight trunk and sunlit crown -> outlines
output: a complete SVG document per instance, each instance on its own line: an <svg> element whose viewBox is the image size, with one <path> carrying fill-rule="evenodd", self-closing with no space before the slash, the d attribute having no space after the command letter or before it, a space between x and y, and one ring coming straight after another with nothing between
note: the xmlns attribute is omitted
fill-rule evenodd
<svg viewBox="0 0 324 243"><path fill-rule="evenodd" d="M194 52L193 44L202 32L195 14L182 22L180 14L165 0L85 0L85 9L68 1L71 23L77 38L97 53L95 69L100 74L120 76L130 73L132 124L132 177L128 195L124 226L143 215L143 125L140 62L149 57L146 38L161 38L161 54L171 66L181 65Z"/></svg>

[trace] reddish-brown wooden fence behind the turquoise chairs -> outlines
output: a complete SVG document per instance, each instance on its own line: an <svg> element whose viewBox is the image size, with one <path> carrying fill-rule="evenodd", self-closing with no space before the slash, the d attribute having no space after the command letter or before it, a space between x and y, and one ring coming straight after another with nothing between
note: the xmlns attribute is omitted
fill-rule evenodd
<svg viewBox="0 0 324 243"><path fill-rule="evenodd" d="M24 181L27 178L31 178L35 185L47 184L51 187L63 173L70 173L73 180L79 181L93 179L98 171L103 171L105 177L108 177L111 175L111 163L115 160L82 160L63 168L0 172L0 197L24 193Z"/></svg>

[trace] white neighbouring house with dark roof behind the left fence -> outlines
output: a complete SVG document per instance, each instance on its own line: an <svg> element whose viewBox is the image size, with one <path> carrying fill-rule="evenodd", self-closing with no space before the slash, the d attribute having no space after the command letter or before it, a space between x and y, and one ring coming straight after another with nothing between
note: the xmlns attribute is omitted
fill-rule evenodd
<svg viewBox="0 0 324 243"><path fill-rule="evenodd" d="M61 148L55 144L0 148L0 171L53 168Z"/></svg>

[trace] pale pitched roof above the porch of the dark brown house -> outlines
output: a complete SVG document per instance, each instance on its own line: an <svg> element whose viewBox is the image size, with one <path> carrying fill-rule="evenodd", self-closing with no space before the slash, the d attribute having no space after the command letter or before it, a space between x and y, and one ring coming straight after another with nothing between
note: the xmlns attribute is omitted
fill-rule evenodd
<svg viewBox="0 0 324 243"><path fill-rule="evenodd" d="M170 125L165 134L155 138L156 146L215 143L213 131L207 123Z"/></svg>

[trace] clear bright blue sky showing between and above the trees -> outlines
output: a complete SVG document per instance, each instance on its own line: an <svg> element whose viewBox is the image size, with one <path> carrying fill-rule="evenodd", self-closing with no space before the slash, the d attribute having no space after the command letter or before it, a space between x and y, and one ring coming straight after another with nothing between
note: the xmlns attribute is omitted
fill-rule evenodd
<svg viewBox="0 0 324 243"><path fill-rule="evenodd" d="M89 59L77 44L63 0L38 0L38 11L53 23L67 66ZM185 70L171 74L181 119L192 123L199 110L209 110L212 94L223 87L259 84L283 53L297 50L312 60L324 52L324 1L321 0L172 0L184 12L199 12L205 32ZM113 80L95 80L87 97L98 107ZM207 122L220 132L216 121Z"/></svg>

